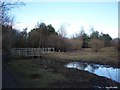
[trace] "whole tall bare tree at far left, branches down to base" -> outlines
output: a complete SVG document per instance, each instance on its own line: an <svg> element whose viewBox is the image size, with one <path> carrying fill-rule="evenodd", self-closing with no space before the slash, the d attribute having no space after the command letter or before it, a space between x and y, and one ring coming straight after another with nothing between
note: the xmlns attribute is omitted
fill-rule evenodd
<svg viewBox="0 0 120 90"><path fill-rule="evenodd" d="M3 44L6 46L4 49L11 48L12 45L12 31L13 31L13 23L14 23L14 17L10 15L10 12L13 8L25 5L24 3L20 1L10 1L10 0L2 0L0 1L0 24L2 26L2 40L4 40Z"/></svg>

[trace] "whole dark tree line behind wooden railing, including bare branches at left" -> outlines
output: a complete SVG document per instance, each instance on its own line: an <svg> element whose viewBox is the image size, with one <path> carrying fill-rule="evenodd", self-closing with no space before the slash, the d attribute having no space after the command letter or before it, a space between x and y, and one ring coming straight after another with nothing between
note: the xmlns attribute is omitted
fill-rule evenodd
<svg viewBox="0 0 120 90"><path fill-rule="evenodd" d="M111 46L112 38L109 34L94 31L90 35L81 30L73 38L66 38L65 27L61 26L56 32L52 24L46 25L44 22L38 23L27 33L27 28L19 31L12 28L13 18L9 16L9 11L21 3L2 2L2 48L9 51L11 48L45 48L53 47L56 51L72 51L81 48L93 48L95 51L102 47ZM114 45L115 46L115 45Z"/></svg>

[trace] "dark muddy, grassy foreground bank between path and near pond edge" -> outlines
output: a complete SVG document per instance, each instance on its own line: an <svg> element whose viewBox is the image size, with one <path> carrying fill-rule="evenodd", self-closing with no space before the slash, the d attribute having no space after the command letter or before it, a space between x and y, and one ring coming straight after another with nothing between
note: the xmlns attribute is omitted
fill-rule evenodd
<svg viewBox="0 0 120 90"><path fill-rule="evenodd" d="M12 59L8 62L19 75L25 88L96 88L118 87L119 83L87 71L68 69L68 61L39 59ZM104 81L104 82L103 82Z"/></svg>

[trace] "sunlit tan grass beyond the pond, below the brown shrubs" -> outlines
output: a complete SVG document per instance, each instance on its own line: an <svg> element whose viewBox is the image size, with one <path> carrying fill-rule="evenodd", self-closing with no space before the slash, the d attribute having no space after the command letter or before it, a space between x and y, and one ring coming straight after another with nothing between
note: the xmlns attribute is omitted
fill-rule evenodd
<svg viewBox="0 0 120 90"><path fill-rule="evenodd" d="M94 52L91 48L74 52L54 52L47 54L44 57L51 60L85 61L90 63L118 66L118 51L114 47L105 47L99 52Z"/></svg>

